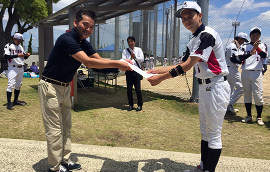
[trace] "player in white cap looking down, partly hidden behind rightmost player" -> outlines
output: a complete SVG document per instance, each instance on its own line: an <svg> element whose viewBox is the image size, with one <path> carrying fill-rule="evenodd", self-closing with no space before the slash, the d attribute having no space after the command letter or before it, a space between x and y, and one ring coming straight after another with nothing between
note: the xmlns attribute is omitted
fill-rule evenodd
<svg viewBox="0 0 270 172"><path fill-rule="evenodd" d="M233 105L243 94L241 75L238 71L240 64L231 62L230 57L232 57L232 54L238 55L240 45L242 45L244 42L248 42L247 34L240 32L237 34L237 36L234 37L234 40L227 46L225 51L225 58L229 71L227 77L228 83L230 85L230 101L227 107L227 112L238 112L238 109L234 109Z"/></svg>

